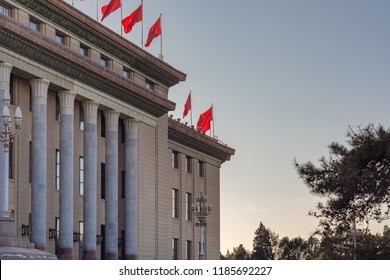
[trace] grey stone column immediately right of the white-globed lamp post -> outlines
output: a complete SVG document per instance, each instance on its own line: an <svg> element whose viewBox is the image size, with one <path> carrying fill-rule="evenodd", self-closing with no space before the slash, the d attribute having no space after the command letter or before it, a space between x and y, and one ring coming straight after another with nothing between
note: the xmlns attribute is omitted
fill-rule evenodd
<svg viewBox="0 0 390 280"><path fill-rule="evenodd" d="M46 246L46 137L47 90L50 81L30 80L32 95L32 242L35 248Z"/></svg>

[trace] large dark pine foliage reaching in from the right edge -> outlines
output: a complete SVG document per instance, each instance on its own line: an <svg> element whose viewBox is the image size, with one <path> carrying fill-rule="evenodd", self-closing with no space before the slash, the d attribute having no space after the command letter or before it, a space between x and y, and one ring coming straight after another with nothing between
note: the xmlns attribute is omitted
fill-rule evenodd
<svg viewBox="0 0 390 280"><path fill-rule="evenodd" d="M310 212L338 233L390 213L390 131L381 125L347 131L347 146L332 143L329 158L295 166L310 191L326 199Z"/></svg>

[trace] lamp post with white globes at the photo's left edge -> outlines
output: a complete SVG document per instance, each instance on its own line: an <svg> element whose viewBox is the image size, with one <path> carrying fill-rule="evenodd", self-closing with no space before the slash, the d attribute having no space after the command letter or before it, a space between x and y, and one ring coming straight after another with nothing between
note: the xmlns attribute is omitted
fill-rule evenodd
<svg viewBox="0 0 390 280"><path fill-rule="evenodd" d="M13 142L16 135L19 133L20 126L22 125L22 111L19 106L15 110L14 123L12 124L12 118L9 112L10 95L8 91L5 91L3 97L3 124L4 131L0 131L0 141L4 146L4 193L2 209L0 209L3 217L9 217L8 211L8 174L9 174L9 146ZM14 126L14 127L12 127Z"/></svg>

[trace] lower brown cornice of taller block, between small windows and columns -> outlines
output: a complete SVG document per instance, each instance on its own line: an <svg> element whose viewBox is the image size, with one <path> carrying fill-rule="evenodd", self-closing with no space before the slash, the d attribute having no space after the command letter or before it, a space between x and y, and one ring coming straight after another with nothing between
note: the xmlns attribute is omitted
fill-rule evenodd
<svg viewBox="0 0 390 280"><path fill-rule="evenodd" d="M0 45L98 88L154 116L159 117L175 109L174 102L2 14L0 14Z"/></svg>

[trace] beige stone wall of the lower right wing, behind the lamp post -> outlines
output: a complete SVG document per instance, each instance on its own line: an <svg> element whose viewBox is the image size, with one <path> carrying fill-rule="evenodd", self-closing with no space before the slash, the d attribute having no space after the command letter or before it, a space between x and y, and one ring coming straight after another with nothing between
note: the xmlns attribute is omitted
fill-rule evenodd
<svg viewBox="0 0 390 280"><path fill-rule="evenodd" d="M186 241L192 241L192 259L199 258L199 228L195 226L197 219L186 219L186 193L192 195L193 203L200 192L208 197L212 210L207 218L208 230L206 232L206 258L219 259L220 255L220 166L221 163L205 154L170 141L169 151L179 154L179 168L170 167L170 187L179 190L179 218L172 219L172 238L179 239L179 259L186 258ZM186 170L186 156L191 158L191 172ZM204 164L204 174L198 174L198 162ZM172 198L172 196L171 196ZM172 217L172 214L171 214Z"/></svg>

